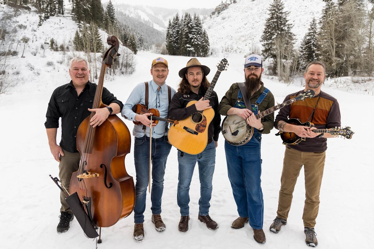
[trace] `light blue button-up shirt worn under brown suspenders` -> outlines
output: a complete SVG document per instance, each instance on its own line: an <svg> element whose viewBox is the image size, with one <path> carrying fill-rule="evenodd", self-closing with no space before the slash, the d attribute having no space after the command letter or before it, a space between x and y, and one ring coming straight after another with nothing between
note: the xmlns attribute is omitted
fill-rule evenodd
<svg viewBox="0 0 374 249"><path fill-rule="evenodd" d="M159 86L153 81L148 81L148 108L154 108L159 110L160 118L168 118L169 110L169 96L168 96L168 85L163 84L158 91ZM171 88L171 98L175 94L175 90ZM135 120L137 113L132 111L132 107L138 103L145 105L145 84L144 82L138 84L131 92L125 105L123 105L121 115L131 121ZM165 133L166 122L159 121L155 127L152 127L152 137L160 138ZM146 127L145 132L149 137L149 128ZM166 133L168 133L166 128ZM135 137L144 136L143 124L134 125L132 134Z"/></svg>

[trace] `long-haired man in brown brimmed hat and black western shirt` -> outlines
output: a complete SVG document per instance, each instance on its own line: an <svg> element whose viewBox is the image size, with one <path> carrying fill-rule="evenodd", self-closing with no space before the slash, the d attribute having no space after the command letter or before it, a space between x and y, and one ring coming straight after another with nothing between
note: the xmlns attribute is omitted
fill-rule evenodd
<svg viewBox="0 0 374 249"><path fill-rule="evenodd" d="M197 155L191 155L178 151L178 192L177 203L180 207L181 220L178 225L179 231L188 230L188 220L190 219L189 206L190 184L193 170L196 162L199 166L200 178L200 199L198 219L204 222L206 226L215 230L218 224L209 216L209 201L212 196L212 179L215 166L215 147L217 147L218 135L221 131L221 116L218 113L218 97L215 91L212 91L209 100L203 100L203 96L208 90L209 82L206 79L210 69L201 65L196 58L187 62L187 66L179 71L182 78L178 92L174 94L169 105L169 118L173 120L182 120L191 116L197 111L205 109L214 109L214 118L208 126L208 144L203 152ZM197 102L188 107L187 103L191 100Z"/></svg>

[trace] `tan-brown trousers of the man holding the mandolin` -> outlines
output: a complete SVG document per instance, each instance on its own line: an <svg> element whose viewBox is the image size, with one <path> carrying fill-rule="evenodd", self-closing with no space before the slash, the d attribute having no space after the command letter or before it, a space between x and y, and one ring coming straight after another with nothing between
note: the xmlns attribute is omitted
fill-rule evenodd
<svg viewBox="0 0 374 249"><path fill-rule="evenodd" d="M319 190L324 173L325 151L301 152L286 147L277 215L279 218L287 220L291 208L292 193L303 165L305 176L304 227L314 228L319 209Z"/></svg>

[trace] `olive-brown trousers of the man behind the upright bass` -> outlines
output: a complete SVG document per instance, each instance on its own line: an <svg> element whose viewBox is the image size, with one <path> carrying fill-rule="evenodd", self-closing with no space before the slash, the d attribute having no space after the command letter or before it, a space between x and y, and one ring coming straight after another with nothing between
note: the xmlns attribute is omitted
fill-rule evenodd
<svg viewBox="0 0 374 249"><path fill-rule="evenodd" d="M60 178L61 185L65 187L65 189L69 192L69 185L70 185L70 179L71 175L74 171L77 171L79 168L79 162L80 162L80 154L79 152L71 153L67 152L66 150L62 149L64 152L64 156L60 156L60 165L59 168L59 174L58 177ZM62 188L64 189L64 188ZM64 190L64 193L67 194ZM60 201L61 201L61 209L60 212L72 212L68 203L66 202L65 194L62 191L60 193Z"/></svg>

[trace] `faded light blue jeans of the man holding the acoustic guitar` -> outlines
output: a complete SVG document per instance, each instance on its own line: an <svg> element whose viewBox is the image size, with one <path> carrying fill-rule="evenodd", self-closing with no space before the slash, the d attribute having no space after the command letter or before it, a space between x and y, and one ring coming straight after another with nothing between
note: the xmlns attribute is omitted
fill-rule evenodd
<svg viewBox="0 0 374 249"><path fill-rule="evenodd" d="M190 184L195 165L199 166L200 199L199 214L209 214L209 201L212 197L212 180L215 166L215 143L207 144L203 152L197 155L184 153L178 150L178 192L177 202L180 207L181 216L190 215Z"/></svg>

